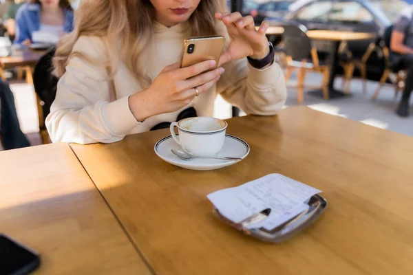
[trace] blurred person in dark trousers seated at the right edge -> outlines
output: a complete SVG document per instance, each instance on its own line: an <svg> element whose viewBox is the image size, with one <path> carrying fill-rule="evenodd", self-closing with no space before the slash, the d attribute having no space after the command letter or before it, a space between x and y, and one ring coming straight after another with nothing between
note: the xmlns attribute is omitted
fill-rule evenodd
<svg viewBox="0 0 413 275"><path fill-rule="evenodd" d="M405 90L396 113L402 117L409 115L410 94L413 89L413 5L405 8L393 27L390 42L392 60L407 72Z"/></svg>

